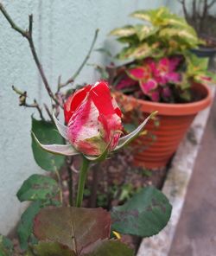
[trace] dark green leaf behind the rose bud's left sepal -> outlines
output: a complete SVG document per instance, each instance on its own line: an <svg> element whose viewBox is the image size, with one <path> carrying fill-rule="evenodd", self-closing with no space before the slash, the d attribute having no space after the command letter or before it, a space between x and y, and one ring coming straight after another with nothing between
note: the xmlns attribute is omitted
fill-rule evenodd
<svg viewBox="0 0 216 256"><path fill-rule="evenodd" d="M53 123L32 118L32 131L42 144L64 144L63 138L56 131ZM42 150L40 145L36 143L33 135L32 150L36 163L44 170L59 170L65 163L65 157L55 156Z"/></svg>

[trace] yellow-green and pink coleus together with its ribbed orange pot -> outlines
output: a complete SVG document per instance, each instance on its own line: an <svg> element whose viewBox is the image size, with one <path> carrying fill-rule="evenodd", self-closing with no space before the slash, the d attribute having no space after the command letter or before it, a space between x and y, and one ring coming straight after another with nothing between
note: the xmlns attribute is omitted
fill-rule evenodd
<svg viewBox="0 0 216 256"><path fill-rule="evenodd" d="M131 16L145 23L111 31L118 42L127 43L118 59L130 60L112 72L111 83L118 90L116 98L124 106L125 120L134 122L137 109L143 116L159 112L159 125L152 122L147 126L149 137L137 139L144 149L135 156L137 165L159 168L175 153L196 113L210 105L206 83L211 78L189 51L200 39L183 18L164 7Z"/></svg>

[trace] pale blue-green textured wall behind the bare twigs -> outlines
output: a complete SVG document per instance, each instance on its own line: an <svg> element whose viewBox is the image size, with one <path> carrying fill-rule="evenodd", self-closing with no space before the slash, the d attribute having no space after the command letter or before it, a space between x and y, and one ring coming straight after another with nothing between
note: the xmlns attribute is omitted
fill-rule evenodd
<svg viewBox="0 0 216 256"><path fill-rule="evenodd" d="M105 44L113 50L116 43L107 40L111 29L131 22L133 10L156 8L165 0L3 0L14 20L26 28L28 15L34 14L34 38L38 54L56 86L62 74L66 80L79 67L99 28L97 47ZM101 63L100 54L93 54L91 62ZM96 79L92 67L85 67L79 81ZM30 146L31 109L18 106L17 95L11 85L27 90L29 100L48 99L29 51L28 42L13 29L0 14L0 233L7 234L22 214L24 203L16 199L16 191L24 179L40 172Z"/></svg>

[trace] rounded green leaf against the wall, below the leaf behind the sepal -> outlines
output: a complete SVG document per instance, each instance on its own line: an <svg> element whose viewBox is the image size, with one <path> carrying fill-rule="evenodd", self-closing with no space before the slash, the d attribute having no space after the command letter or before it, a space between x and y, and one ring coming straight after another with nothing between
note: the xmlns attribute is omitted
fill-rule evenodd
<svg viewBox="0 0 216 256"><path fill-rule="evenodd" d="M50 201L59 192L57 182L48 177L34 174L23 182L16 196L23 201Z"/></svg>

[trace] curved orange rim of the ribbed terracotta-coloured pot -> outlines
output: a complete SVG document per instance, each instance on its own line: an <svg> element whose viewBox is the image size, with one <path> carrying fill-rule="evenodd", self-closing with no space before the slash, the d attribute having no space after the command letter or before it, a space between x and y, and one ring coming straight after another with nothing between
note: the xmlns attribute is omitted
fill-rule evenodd
<svg viewBox="0 0 216 256"><path fill-rule="evenodd" d="M153 102L144 99L136 99L133 96L124 95L127 98L130 98L132 102L138 103L142 106L143 112L154 112L158 111L158 115L168 115L168 116L184 116L184 115L193 115L201 110L205 109L212 102L212 93L209 86L205 84L197 83L198 86L202 86L202 89L206 90L206 97L198 101L189 102L189 103L160 103Z"/></svg>

